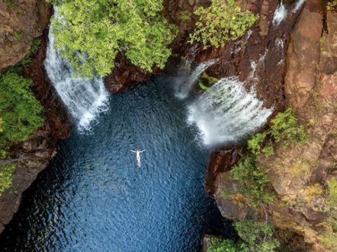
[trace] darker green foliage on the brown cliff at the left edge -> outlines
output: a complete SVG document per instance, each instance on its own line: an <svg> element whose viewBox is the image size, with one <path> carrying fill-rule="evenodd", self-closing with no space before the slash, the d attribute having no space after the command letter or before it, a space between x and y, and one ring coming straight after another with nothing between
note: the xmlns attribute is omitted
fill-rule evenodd
<svg viewBox="0 0 337 252"><path fill-rule="evenodd" d="M20 75L39 44L40 40L34 39L24 60L0 74L0 160L6 158L11 143L27 140L44 124L42 107L30 89L32 81ZM14 171L15 165L0 164L0 195L11 187Z"/></svg>

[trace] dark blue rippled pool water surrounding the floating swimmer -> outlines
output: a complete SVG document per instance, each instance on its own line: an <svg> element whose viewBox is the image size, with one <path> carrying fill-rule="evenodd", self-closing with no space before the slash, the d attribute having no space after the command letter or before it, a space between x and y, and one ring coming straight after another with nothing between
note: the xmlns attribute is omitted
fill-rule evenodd
<svg viewBox="0 0 337 252"><path fill-rule="evenodd" d="M0 251L199 251L219 213L204 191L209 150L185 119L167 79L112 95L91 135L61 142Z"/></svg>

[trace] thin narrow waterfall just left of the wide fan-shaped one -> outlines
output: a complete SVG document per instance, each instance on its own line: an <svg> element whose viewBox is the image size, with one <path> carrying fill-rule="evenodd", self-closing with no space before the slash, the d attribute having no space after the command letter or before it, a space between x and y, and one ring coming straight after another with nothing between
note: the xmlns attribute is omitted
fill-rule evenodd
<svg viewBox="0 0 337 252"><path fill-rule="evenodd" d="M193 85L198 81L200 75L207 69L207 67L213 65L216 60L209 60L202 62L195 69L191 71L190 60L187 60L185 63L185 69L183 72L183 77L179 78L179 84L176 86L176 97L183 100L189 95Z"/></svg>

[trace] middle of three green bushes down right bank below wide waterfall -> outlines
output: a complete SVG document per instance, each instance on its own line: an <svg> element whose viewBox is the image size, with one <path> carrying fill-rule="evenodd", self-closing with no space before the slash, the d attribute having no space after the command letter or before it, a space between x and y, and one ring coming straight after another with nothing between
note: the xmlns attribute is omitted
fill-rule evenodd
<svg viewBox="0 0 337 252"><path fill-rule="evenodd" d="M237 180L241 188L240 193L249 199L249 203L257 206L260 201L271 202L274 197L267 192L269 178L265 169L256 164L256 157L250 155L239 161L231 171L232 177Z"/></svg>

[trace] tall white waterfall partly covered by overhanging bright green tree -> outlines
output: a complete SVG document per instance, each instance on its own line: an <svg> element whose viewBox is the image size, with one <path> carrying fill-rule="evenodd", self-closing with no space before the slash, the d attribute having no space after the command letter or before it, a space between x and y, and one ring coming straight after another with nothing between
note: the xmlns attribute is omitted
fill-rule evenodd
<svg viewBox="0 0 337 252"><path fill-rule="evenodd" d="M54 8L54 15L58 15ZM62 58L54 46L55 38L49 29L49 44L44 65L51 83L58 95L67 106L80 131L88 131L97 115L107 110L109 94L105 89L103 79L95 77L75 78L74 69Z"/></svg>

